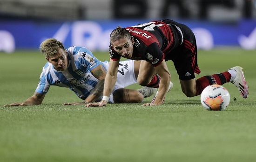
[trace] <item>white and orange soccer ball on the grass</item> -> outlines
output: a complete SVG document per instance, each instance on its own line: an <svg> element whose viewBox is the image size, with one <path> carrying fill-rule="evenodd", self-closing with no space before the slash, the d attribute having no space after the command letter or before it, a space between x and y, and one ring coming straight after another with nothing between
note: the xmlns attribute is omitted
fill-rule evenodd
<svg viewBox="0 0 256 162"><path fill-rule="evenodd" d="M207 110L221 111L229 105L229 91L218 84L209 85L201 93L202 106Z"/></svg>

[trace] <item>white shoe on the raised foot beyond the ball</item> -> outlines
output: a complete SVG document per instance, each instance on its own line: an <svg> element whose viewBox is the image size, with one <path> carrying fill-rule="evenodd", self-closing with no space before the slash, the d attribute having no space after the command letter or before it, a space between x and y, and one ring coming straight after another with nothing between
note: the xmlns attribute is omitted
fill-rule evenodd
<svg viewBox="0 0 256 162"><path fill-rule="evenodd" d="M238 88L243 98L247 98L247 95L249 93L248 92L249 87L247 85L247 82L245 81L242 69L243 68L240 66L236 66L234 68L229 69L229 70L236 71L236 77L234 78L233 81L231 81L231 83L233 83Z"/></svg>

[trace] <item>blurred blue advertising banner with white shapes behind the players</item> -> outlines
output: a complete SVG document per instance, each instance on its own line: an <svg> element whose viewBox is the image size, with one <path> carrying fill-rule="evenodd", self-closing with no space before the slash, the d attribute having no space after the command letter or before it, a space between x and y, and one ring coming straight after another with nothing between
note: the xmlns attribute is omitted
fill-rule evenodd
<svg viewBox="0 0 256 162"><path fill-rule="evenodd" d="M110 32L117 26L134 26L149 21L0 21L0 51L39 49L40 43L49 37L61 40L66 47L77 45L92 51L107 51ZM188 25L195 33L198 49L210 50L218 46L256 49L256 20L242 20L234 24L189 20L179 22Z"/></svg>

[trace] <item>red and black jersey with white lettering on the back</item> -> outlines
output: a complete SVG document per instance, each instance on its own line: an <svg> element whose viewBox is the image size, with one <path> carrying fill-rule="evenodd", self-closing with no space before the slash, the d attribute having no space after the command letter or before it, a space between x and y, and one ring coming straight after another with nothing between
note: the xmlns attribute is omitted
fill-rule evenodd
<svg viewBox="0 0 256 162"><path fill-rule="evenodd" d="M166 24L163 20L126 27L135 39L131 59L146 60L152 62L153 66L160 64L165 55L168 55L177 44L175 40L177 34L174 32L178 31L176 28L172 30L173 28L175 28L174 25ZM118 60L121 57L111 45L109 54L112 60Z"/></svg>

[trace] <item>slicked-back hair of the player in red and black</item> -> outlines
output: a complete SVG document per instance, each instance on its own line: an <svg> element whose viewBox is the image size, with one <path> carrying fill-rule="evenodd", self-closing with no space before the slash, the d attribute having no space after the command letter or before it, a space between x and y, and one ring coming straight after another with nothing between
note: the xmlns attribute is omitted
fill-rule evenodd
<svg viewBox="0 0 256 162"><path fill-rule="evenodd" d="M127 29L122 28L121 26L118 26L110 34L110 43L112 44L113 42L115 42L121 38L132 39L132 35Z"/></svg>

